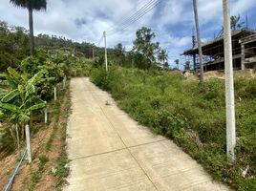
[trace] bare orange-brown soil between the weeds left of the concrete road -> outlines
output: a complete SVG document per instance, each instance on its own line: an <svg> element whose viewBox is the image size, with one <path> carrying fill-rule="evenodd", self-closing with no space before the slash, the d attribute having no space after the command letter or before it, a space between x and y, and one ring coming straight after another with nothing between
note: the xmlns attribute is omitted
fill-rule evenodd
<svg viewBox="0 0 256 191"><path fill-rule="evenodd" d="M12 183L11 190L30 190L31 185L31 172L36 172L38 169L39 159L38 156L46 156L49 161L46 162L41 179L36 183L33 190L54 190L57 179L53 176L52 167L60 156L61 152L61 132L63 128L66 128L64 121L66 120L63 112L65 110L67 96L64 96L64 100L61 103L61 112L58 120L58 127L56 134L53 138L53 144L51 149L47 152L45 149L45 144L51 137L53 132L54 121L53 117L51 123L48 127L40 129L32 138L32 163L29 164L27 159L25 159L20 166L19 172ZM7 185L8 181L11 179L11 175L18 163L19 155L12 154L6 159L0 160L0 190L3 190Z"/></svg>

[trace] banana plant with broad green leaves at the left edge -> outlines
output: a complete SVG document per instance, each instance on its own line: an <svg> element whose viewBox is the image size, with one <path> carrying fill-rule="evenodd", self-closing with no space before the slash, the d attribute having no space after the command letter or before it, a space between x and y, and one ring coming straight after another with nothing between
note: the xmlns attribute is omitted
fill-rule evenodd
<svg viewBox="0 0 256 191"><path fill-rule="evenodd" d="M21 126L31 122L32 113L46 107L46 102L40 98L38 86L44 81L46 72L40 71L31 78L8 68L8 74L0 81L0 117L7 123L19 123Z"/></svg>

